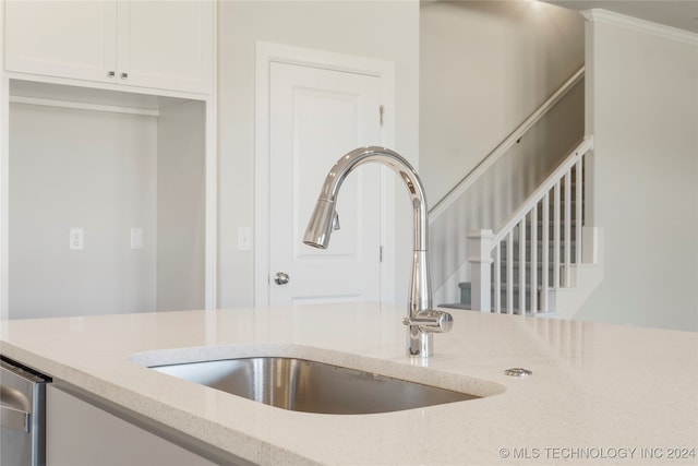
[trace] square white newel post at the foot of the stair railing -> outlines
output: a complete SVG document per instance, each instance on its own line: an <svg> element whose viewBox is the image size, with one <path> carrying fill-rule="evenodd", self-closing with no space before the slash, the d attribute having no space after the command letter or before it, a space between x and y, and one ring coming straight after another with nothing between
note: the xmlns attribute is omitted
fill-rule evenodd
<svg viewBox="0 0 698 466"><path fill-rule="evenodd" d="M471 273L471 309L490 312L492 309L492 230L473 230L468 235Z"/></svg>

